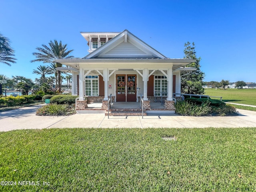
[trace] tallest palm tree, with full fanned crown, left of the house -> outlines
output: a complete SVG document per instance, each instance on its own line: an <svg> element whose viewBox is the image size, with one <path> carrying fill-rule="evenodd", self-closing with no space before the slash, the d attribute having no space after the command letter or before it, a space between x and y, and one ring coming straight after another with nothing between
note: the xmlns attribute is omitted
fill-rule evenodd
<svg viewBox="0 0 256 192"><path fill-rule="evenodd" d="M69 56L69 54L73 50L67 50L67 44L62 45L60 41L58 43L57 40L54 42L50 41L49 46L42 44L41 47L37 47L36 50L38 52L34 52L33 55L36 56L36 59L32 60L31 62L38 62L42 61L43 63L54 63L56 67L61 67L62 64L55 62L56 59L63 59L63 58L72 58L74 56ZM61 72L58 70L58 90L61 91Z"/></svg>

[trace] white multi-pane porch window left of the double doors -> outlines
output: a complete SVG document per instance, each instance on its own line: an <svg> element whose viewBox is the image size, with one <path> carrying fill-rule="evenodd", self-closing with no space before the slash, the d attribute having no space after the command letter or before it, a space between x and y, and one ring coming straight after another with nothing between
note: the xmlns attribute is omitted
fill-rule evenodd
<svg viewBox="0 0 256 192"><path fill-rule="evenodd" d="M85 95L99 95L99 78L98 75L89 75L85 77Z"/></svg>

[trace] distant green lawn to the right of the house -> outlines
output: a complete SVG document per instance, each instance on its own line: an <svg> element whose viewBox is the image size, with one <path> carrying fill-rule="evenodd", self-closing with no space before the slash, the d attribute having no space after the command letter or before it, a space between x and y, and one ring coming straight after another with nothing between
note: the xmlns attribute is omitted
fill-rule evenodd
<svg viewBox="0 0 256 192"><path fill-rule="evenodd" d="M222 96L222 101L224 102L256 106L256 89L205 89L205 95Z"/></svg>

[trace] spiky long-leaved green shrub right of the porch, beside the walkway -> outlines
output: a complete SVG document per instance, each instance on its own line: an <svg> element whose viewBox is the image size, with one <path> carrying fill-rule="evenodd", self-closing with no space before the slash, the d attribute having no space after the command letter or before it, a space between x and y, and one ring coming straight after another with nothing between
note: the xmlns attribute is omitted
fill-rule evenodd
<svg viewBox="0 0 256 192"><path fill-rule="evenodd" d="M176 102L174 105L176 113L185 116L203 116L208 115L211 112L210 102L202 102L198 105L188 101Z"/></svg>

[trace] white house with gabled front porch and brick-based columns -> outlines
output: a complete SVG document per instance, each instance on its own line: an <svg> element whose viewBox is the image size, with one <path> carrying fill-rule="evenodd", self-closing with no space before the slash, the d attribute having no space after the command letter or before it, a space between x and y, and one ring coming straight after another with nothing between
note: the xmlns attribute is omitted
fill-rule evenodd
<svg viewBox="0 0 256 192"><path fill-rule="evenodd" d="M184 66L192 59L167 58L128 30L123 32L81 32L88 42L89 54L84 58L58 59L68 66L59 70L72 73L72 95L78 95L77 110L90 102L140 102L150 108L154 96L166 97L166 109L173 110L174 95L180 96L181 76L194 68Z"/></svg>

